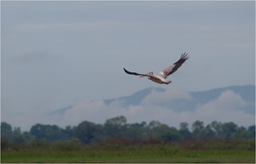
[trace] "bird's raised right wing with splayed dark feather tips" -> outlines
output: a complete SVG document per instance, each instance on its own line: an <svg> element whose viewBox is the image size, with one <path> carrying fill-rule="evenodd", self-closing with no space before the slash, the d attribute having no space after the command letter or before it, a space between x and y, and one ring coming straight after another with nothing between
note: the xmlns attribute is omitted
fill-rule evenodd
<svg viewBox="0 0 256 164"><path fill-rule="evenodd" d="M176 63L174 63L171 66L168 66L165 70L160 71L160 75L164 76L165 78L169 75L171 75L172 73L174 73L175 71L177 71L177 69L183 65L183 63L189 59L188 53L183 53L181 54L181 57L179 60L177 60Z"/></svg>

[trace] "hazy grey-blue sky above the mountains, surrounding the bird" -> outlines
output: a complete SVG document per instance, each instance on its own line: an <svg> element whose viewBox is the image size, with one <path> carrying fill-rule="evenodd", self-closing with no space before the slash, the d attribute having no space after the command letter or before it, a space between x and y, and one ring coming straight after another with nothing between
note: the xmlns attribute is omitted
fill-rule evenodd
<svg viewBox="0 0 256 164"><path fill-rule="evenodd" d="M254 45L253 1L3 1L1 120L22 128L28 115L144 88L254 84ZM123 71L159 72L183 52L170 85Z"/></svg>

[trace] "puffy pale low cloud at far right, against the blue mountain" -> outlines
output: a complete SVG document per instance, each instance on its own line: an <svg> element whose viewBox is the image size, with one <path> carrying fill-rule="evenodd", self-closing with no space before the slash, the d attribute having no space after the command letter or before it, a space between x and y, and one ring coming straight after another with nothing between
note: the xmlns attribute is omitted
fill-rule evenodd
<svg viewBox="0 0 256 164"><path fill-rule="evenodd" d="M249 126L254 124L255 116L242 110L247 105L249 103L238 94L233 91L225 91L217 99L204 105L198 105L195 114L199 120L205 120L207 123L216 120Z"/></svg>

